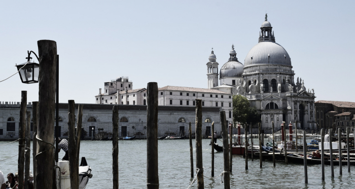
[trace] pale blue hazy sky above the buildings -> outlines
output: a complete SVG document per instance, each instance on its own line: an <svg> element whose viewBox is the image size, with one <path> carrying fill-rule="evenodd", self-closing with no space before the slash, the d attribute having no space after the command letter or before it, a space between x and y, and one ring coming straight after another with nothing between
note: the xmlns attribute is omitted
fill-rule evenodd
<svg viewBox="0 0 355 189"><path fill-rule="evenodd" d="M265 12L295 78L315 100L352 101L355 1L3 1L0 80L17 71L38 40L57 42L59 101L94 103L103 83L128 76L133 88L207 87L208 56L220 68L232 44L244 63ZM32 56L34 58L34 56ZM37 60L35 60L38 62ZM38 84L17 75L0 83L0 101L38 100Z"/></svg>

